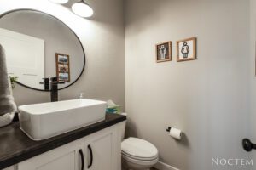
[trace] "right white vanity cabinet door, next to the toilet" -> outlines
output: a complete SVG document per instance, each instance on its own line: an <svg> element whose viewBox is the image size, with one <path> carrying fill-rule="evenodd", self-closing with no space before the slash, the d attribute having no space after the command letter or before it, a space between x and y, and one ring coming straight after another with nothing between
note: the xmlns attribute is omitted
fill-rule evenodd
<svg viewBox="0 0 256 170"><path fill-rule="evenodd" d="M117 125L84 138L86 170L120 170L120 138Z"/></svg>

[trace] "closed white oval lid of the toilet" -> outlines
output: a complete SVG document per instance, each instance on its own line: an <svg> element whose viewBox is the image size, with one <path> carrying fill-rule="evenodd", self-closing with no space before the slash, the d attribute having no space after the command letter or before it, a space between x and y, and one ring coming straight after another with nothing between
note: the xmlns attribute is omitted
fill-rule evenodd
<svg viewBox="0 0 256 170"><path fill-rule="evenodd" d="M143 139L125 139L121 144L121 149L125 155L137 158L154 158L158 156L156 147Z"/></svg>

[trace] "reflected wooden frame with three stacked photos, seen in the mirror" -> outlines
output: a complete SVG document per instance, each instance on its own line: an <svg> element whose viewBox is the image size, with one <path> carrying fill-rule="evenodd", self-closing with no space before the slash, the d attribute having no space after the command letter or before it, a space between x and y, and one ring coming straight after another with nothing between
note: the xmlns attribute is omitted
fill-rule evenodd
<svg viewBox="0 0 256 170"><path fill-rule="evenodd" d="M70 59L68 54L55 54L56 77L60 81L70 82Z"/></svg>

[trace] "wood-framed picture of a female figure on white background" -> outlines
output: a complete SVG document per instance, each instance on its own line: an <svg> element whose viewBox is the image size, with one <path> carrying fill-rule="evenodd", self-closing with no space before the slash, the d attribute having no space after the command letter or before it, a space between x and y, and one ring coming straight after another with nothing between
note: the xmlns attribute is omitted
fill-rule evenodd
<svg viewBox="0 0 256 170"><path fill-rule="evenodd" d="M196 37L176 42L177 62L196 59Z"/></svg>

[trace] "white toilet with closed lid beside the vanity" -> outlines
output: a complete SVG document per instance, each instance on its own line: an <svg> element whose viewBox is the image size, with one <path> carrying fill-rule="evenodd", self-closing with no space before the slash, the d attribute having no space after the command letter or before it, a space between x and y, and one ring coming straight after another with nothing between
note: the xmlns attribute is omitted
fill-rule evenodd
<svg viewBox="0 0 256 170"><path fill-rule="evenodd" d="M124 114L125 115L125 114ZM123 170L149 170L158 161L158 150L154 144L137 138L125 137L125 125L123 124L122 169Z"/></svg>

